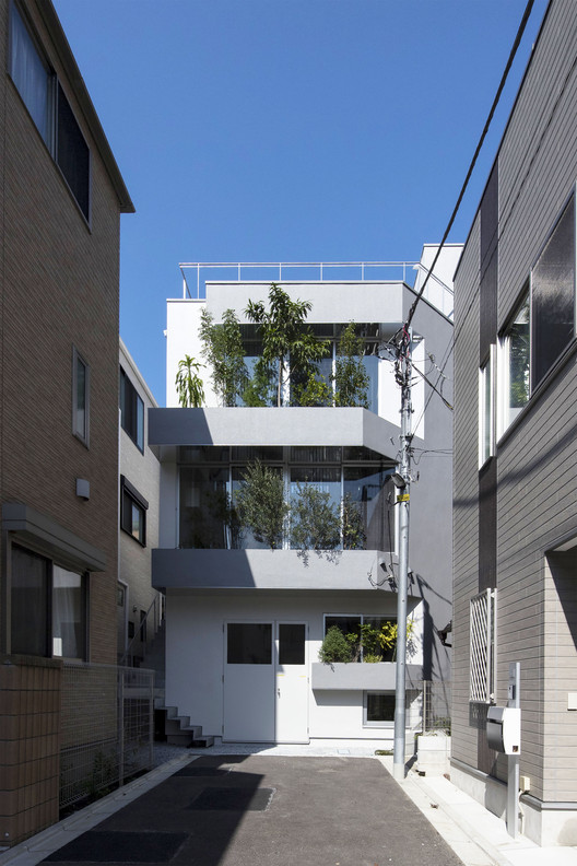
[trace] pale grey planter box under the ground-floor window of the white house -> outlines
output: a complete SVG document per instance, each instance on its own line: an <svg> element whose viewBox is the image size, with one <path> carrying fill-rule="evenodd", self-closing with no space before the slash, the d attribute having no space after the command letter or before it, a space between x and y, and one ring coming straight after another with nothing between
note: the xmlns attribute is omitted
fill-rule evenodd
<svg viewBox="0 0 577 866"><path fill-rule="evenodd" d="M420 665L407 665L407 688L416 688L422 678ZM397 665L395 662L364 664L362 662L335 662L311 665L313 689L337 691L395 691Z"/></svg>

